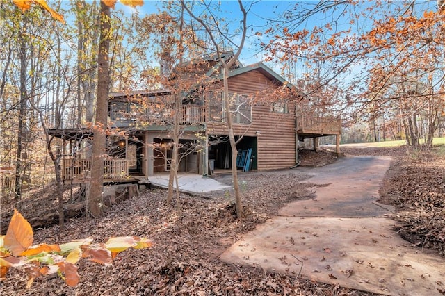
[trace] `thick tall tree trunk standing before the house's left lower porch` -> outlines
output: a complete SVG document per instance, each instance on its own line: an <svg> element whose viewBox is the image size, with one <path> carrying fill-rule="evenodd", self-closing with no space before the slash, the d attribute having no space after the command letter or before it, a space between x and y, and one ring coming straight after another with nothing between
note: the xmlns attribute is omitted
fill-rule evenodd
<svg viewBox="0 0 445 296"><path fill-rule="evenodd" d="M88 210L92 217L102 214L102 190L104 188L104 154L108 113L108 50L110 48L110 8L100 2L100 40L97 58L97 102L94 138L92 140L91 187Z"/></svg>

